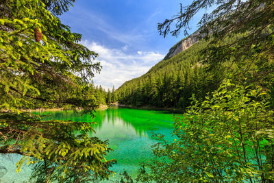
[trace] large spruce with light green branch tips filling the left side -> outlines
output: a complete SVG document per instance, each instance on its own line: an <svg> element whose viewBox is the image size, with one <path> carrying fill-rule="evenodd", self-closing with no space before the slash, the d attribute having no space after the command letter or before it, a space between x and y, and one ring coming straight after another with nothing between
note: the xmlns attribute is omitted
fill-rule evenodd
<svg viewBox="0 0 274 183"><path fill-rule="evenodd" d="M70 108L92 112L105 92L88 82L99 63L97 53L77 40L54 14L71 0L0 2L0 153L21 154L34 164L35 182L108 179L115 160L105 160L108 141L90 137L90 123L41 121L29 108ZM52 13L51 13L52 12ZM36 42L34 30L42 32ZM100 99L97 95L103 96Z"/></svg>

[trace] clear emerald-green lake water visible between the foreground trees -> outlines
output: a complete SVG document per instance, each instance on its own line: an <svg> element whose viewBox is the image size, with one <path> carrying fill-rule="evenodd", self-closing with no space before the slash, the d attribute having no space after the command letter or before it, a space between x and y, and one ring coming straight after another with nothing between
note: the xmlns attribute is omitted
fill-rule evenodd
<svg viewBox="0 0 274 183"><path fill-rule="evenodd" d="M164 111L109 108L97 111L95 118L89 114L80 115L71 111L41 114L47 115L45 119L96 122L96 134L90 135L98 136L102 140L109 139L110 147L114 151L106 158L117 160L117 164L111 168L117 175L123 170L130 175L136 175L139 163L149 160L153 155L151 145L157 143L153 133L161 133L171 138L170 133L173 130L173 114ZM25 166L21 173L16 173L16 162L19 159L20 156L17 155L0 156L0 167L4 166L8 170L8 173L0 178L0 182L28 181L31 173L29 167Z"/></svg>

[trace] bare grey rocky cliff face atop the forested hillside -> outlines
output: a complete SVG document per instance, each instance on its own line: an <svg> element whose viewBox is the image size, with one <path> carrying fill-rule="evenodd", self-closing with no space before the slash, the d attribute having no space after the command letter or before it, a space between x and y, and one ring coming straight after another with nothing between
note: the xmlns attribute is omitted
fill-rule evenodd
<svg viewBox="0 0 274 183"><path fill-rule="evenodd" d="M180 40L176 45L174 45L171 49L169 49L169 53L166 54L164 57L164 60L167 60L169 58L172 58L173 56L176 56L178 53L181 53L182 51L188 49L193 44L199 41L198 38L199 32L195 32L188 36L187 38L184 38Z"/></svg>

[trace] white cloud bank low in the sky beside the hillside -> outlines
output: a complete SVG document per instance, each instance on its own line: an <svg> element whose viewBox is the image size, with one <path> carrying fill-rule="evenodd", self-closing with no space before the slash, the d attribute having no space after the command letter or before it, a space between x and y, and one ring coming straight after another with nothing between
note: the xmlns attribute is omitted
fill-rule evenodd
<svg viewBox="0 0 274 183"><path fill-rule="evenodd" d="M95 74L95 85L101 84L105 89L119 88L121 84L134 77L145 74L151 66L158 63L164 55L153 51L138 51L137 53L125 53L127 49L110 49L99 45L98 42L84 40L83 45L88 49L99 53L96 60L101 62L103 69L100 74ZM125 46L127 47L127 46Z"/></svg>

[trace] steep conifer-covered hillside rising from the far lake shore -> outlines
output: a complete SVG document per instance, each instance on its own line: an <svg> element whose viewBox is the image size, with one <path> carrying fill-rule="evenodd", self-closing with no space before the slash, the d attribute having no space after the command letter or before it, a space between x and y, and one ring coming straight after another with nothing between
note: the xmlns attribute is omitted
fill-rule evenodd
<svg viewBox="0 0 274 183"><path fill-rule="evenodd" d="M186 108L192 93L201 98L216 89L223 75L206 73L201 65L200 52L207 44L201 40L182 53L162 60L145 75L125 82L116 90L119 103Z"/></svg>

